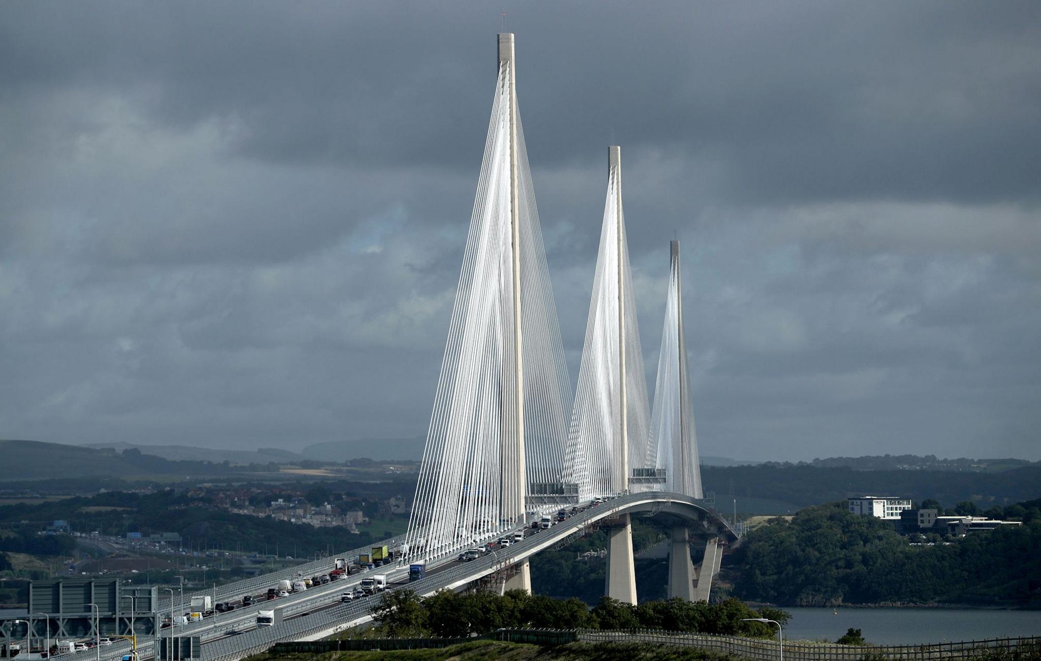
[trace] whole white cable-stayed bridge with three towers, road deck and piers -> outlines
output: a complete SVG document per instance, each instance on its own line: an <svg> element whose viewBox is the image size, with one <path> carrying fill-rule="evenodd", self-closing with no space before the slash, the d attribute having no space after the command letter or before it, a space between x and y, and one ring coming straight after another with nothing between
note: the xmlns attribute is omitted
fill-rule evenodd
<svg viewBox="0 0 1041 661"><path fill-rule="evenodd" d="M596 271L573 398L517 108L513 35L500 34L498 45L491 118L415 499L408 532L380 542L401 550L398 564L383 571L391 583L403 582L410 562L426 562L428 576L409 584L420 594L473 585L530 591L531 556L606 528L605 592L635 604L631 516L657 515L672 525L669 595L707 600L721 548L738 534L703 498L679 243L670 244L652 409L626 238L621 152L609 147ZM542 523L559 510L565 511L563 520ZM696 581L691 531L707 539ZM523 541L496 544L518 532ZM478 545L492 550L478 560L459 560ZM335 557L226 585L214 596L256 594L297 571L328 570ZM338 599L364 576L271 602L285 611L279 626L257 628L253 607L191 624L178 634L201 636L211 659L238 659L277 640L327 636L370 619L372 599ZM161 600L159 608L180 610L177 598ZM154 639L144 641L143 659L153 645ZM125 649L113 645L101 656L118 658Z"/></svg>

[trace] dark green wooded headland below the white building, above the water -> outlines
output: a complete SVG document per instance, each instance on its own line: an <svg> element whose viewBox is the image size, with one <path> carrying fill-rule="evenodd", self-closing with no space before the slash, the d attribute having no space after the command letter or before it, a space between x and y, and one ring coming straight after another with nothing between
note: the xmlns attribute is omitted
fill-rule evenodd
<svg viewBox="0 0 1041 661"><path fill-rule="evenodd" d="M890 523L852 514L840 501L801 510L790 523L771 519L729 560L738 573L733 593L756 602L1041 603L1041 518L912 545Z"/></svg>

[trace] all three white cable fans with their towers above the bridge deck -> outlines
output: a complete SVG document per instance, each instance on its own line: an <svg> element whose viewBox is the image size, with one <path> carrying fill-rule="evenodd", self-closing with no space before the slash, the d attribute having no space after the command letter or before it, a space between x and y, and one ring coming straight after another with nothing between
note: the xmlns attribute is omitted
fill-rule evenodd
<svg viewBox="0 0 1041 661"><path fill-rule="evenodd" d="M499 72L403 559L438 560L564 503L639 490L702 498L679 244L651 414L609 148L596 271L570 399L517 107L513 35Z"/></svg>

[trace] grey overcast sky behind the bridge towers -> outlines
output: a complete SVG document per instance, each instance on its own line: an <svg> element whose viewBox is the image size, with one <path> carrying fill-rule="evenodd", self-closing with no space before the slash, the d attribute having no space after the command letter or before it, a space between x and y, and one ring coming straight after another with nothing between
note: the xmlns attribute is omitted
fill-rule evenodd
<svg viewBox="0 0 1041 661"><path fill-rule="evenodd" d="M501 6L0 3L0 437L425 434ZM1041 459L1041 3L506 11L573 381L613 135L703 454Z"/></svg>

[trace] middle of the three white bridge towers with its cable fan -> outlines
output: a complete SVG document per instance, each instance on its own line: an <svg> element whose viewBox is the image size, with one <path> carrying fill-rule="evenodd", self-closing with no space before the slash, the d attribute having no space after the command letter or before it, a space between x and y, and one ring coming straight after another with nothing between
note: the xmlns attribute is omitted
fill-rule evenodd
<svg viewBox="0 0 1041 661"><path fill-rule="evenodd" d="M621 206L621 148L608 148L607 200L572 409L565 482L582 500L629 490L648 464L649 404Z"/></svg>

